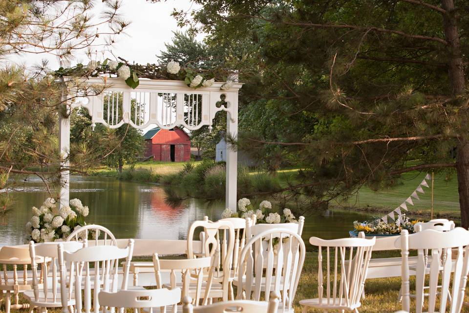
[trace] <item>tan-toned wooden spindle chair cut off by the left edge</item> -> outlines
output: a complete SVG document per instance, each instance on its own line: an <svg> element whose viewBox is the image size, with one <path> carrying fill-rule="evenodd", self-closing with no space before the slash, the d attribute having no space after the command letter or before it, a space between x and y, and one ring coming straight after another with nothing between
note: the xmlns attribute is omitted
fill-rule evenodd
<svg viewBox="0 0 469 313"><path fill-rule="evenodd" d="M39 262L39 260L38 260ZM31 264L29 249L27 246L3 246L0 248L0 264L3 268L3 280L0 275L0 303L3 292L5 292L5 312L11 309L27 309L29 304L20 304L19 294L32 289L32 281L28 278L28 264ZM7 266L13 267L13 275L8 276ZM20 268L23 269L22 277ZM15 303L11 303L12 294Z"/></svg>

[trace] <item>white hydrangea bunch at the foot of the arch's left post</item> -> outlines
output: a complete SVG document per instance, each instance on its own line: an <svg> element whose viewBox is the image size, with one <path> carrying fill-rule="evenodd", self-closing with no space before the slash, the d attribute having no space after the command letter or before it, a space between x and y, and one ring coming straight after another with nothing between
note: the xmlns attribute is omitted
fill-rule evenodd
<svg viewBox="0 0 469 313"><path fill-rule="evenodd" d="M51 242L65 239L75 229L86 225L89 208L79 199L72 199L69 206L57 208L57 201L47 198L41 207L32 208L33 217L26 224L26 242Z"/></svg>

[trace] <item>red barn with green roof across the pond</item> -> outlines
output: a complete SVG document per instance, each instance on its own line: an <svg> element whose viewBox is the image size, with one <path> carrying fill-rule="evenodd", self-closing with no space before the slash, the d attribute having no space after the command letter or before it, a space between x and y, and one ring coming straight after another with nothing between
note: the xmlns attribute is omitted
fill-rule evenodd
<svg viewBox="0 0 469 313"><path fill-rule="evenodd" d="M191 140L180 128L167 130L156 127L143 136L147 143L145 156L153 156L155 161L184 162L191 159Z"/></svg>

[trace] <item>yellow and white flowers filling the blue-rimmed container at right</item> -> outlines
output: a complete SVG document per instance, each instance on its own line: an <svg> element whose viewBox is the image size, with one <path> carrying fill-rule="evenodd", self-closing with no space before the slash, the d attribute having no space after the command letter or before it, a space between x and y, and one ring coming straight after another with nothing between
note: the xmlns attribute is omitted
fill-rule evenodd
<svg viewBox="0 0 469 313"><path fill-rule="evenodd" d="M364 221L362 223L353 222L354 233L364 232L365 235L398 235L403 229L407 229L409 233L413 233L414 225L419 220L410 220L405 214L398 215L394 223L385 223L382 220L372 222Z"/></svg>

